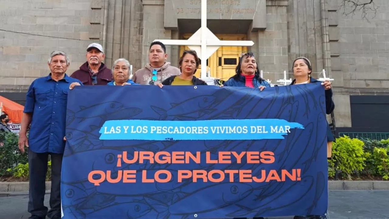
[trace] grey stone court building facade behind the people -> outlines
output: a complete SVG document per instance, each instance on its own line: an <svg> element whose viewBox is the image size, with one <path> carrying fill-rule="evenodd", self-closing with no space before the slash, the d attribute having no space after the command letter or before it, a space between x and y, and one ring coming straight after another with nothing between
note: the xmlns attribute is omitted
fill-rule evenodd
<svg viewBox="0 0 389 219"><path fill-rule="evenodd" d="M130 60L135 72L147 63L153 40L184 39L200 28L200 2L1 1L1 94L23 102L30 83L49 73L47 59L51 51L63 50L70 55L68 74L71 74L86 61L86 46L91 42L103 45L104 63L108 67L115 59L124 57ZM379 97L375 101L381 107L389 106L385 105L385 101L389 103L389 2L374 0L378 9L368 14L368 21L359 11L354 16L344 16L341 2L208 0L207 25L214 34L221 39L254 41L250 48L219 49L208 60L211 76L220 78L214 72L233 71L238 53L251 51L264 72L263 77L274 83L284 77L282 72L291 72L296 57L308 57L314 72L325 69L327 76L335 79L336 126L354 127L354 97ZM172 65L178 65L183 49L168 46L168 61ZM288 73L287 78L293 75ZM368 99L370 102L356 100L355 104L373 104L374 98ZM389 119L385 119L389 124Z"/></svg>

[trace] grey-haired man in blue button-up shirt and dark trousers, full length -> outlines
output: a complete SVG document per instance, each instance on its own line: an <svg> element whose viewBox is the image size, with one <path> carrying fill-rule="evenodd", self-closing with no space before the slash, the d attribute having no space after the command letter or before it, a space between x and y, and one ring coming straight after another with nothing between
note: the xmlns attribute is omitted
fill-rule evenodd
<svg viewBox="0 0 389 219"><path fill-rule="evenodd" d="M61 51L51 53L48 66L51 73L35 79L26 95L25 109L19 133L19 149L28 147L30 219L61 218L61 166L65 149L66 106L70 84L81 81L70 78L68 55ZM29 138L27 127L31 124ZM48 155L51 155L50 210L44 206Z"/></svg>

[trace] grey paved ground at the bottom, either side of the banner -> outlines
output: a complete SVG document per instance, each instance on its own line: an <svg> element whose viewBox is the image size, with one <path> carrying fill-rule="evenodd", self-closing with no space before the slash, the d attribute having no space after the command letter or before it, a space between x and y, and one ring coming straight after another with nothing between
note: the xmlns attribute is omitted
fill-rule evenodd
<svg viewBox="0 0 389 219"><path fill-rule="evenodd" d="M49 195L45 203L48 205ZM0 219L28 219L28 196L0 197ZM277 217L291 219L292 217ZM389 219L389 190L330 191L329 219ZM272 218L276 219L276 218Z"/></svg>

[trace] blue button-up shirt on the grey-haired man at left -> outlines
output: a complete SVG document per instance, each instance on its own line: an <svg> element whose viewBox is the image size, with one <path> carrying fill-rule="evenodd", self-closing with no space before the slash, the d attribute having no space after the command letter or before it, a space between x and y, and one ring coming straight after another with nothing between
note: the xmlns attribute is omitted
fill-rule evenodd
<svg viewBox="0 0 389 219"><path fill-rule="evenodd" d="M65 77L54 81L51 74L35 79L26 95L23 112L32 113L29 150L35 153L63 153L69 86L81 81Z"/></svg>

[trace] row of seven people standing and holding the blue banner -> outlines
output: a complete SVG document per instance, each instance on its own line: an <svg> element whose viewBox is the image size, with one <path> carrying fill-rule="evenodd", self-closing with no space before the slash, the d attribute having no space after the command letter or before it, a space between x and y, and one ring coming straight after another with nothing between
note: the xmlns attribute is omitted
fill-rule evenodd
<svg viewBox="0 0 389 219"><path fill-rule="evenodd" d="M193 50L186 50L179 59L179 67L170 66L166 62L166 47L161 42L153 42L149 50L150 63L139 69L130 79L130 63L126 59L118 59L109 69L102 65L103 48L98 43L92 43L87 48L87 62L80 70L68 76L65 72L69 67L69 57L65 52L54 51L48 59L50 74L35 79L26 94L26 103L19 133L19 149L25 152L28 147L28 163L30 171L30 194L28 211L30 219L61 218L61 164L65 148L65 124L67 110L67 95L69 89L77 85L146 85L155 84L163 89L166 85L207 85L202 79L195 77L200 65L198 55ZM90 63L90 64L89 64ZM312 66L305 57L299 57L293 62L295 79L292 84L321 83L325 88L326 113L334 109L331 83L317 81L310 76ZM270 84L259 76L259 67L252 52L243 54L236 74L228 79L223 86L258 88L263 91ZM6 118L2 118L2 122ZM27 138L27 127L31 125ZM328 142L334 140L328 126ZM44 206L45 179L48 155L51 155L52 182L50 207ZM296 216L296 219L313 219L319 216Z"/></svg>

